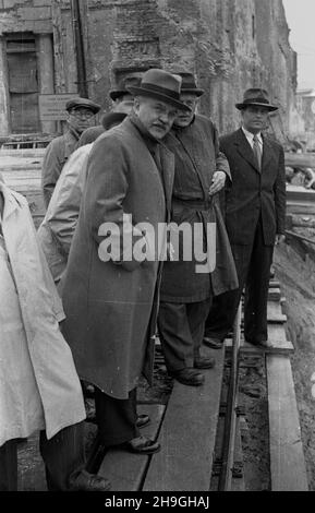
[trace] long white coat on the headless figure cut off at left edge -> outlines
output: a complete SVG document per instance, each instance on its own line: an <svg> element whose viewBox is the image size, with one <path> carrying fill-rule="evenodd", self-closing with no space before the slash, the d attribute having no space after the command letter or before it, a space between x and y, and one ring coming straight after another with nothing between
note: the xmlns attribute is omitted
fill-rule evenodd
<svg viewBox="0 0 315 513"><path fill-rule="evenodd" d="M85 418L64 319L26 200L1 181L0 446L46 429L52 438ZM0 231L1 232L1 231Z"/></svg>

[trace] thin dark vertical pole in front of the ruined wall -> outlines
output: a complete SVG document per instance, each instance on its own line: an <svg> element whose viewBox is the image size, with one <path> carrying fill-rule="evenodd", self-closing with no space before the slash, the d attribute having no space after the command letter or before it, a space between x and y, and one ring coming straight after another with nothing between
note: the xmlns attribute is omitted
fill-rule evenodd
<svg viewBox="0 0 315 513"><path fill-rule="evenodd" d="M82 33L82 20L80 11L80 0L71 0L72 26L74 34L74 47L76 55L77 68L77 85L78 94L83 98L88 97L87 81L86 81L86 67L85 67L85 52Z"/></svg>

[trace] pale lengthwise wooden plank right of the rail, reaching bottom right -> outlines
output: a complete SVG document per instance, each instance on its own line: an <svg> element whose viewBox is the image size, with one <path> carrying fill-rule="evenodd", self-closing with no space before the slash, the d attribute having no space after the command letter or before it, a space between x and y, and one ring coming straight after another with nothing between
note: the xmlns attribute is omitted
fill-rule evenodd
<svg viewBox="0 0 315 513"><path fill-rule="evenodd" d="M307 475L289 357L267 356L272 491L306 491Z"/></svg>

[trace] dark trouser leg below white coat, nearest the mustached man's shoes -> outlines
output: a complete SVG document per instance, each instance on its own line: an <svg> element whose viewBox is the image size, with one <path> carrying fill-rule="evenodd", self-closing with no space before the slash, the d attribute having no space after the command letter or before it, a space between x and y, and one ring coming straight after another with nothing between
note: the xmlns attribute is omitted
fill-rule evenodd
<svg viewBox="0 0 315 513"><path fill-rule="evenodd" d="M84 423L69 426L50 440L47 440L45 431L40 431L39 449L48 489L68 490L70 477L75 477L85 466Z"/></svg>

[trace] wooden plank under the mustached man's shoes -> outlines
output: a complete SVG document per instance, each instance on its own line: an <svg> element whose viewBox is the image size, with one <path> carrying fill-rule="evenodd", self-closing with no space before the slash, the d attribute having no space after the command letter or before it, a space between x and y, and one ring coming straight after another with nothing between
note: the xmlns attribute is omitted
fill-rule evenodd
<svg viewBox="0 0 315 513"><path fill-rule="evenodd" d="M165 413L165 405L140 405L137 411L147 414L150 423L141 430L142 434L156 439ZM137 491L141 489L149 458L154 456L133 454L121 449L111 449L98 470L111 482L111 491Z"/></svg>

